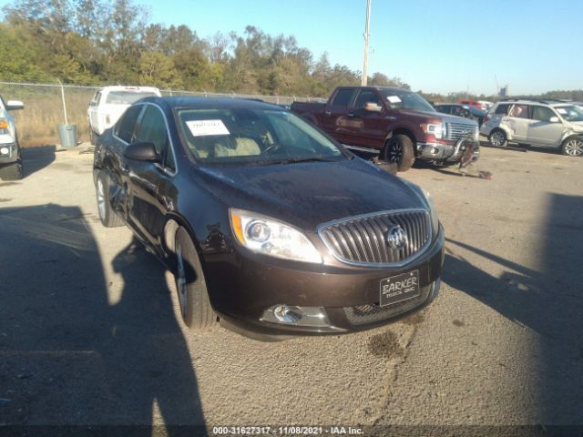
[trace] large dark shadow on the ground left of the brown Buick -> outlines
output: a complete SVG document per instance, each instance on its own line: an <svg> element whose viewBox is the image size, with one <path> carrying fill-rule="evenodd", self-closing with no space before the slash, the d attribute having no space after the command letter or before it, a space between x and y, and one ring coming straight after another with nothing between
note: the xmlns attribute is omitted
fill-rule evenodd
<svg viewBox="0 0 583 437"><path fill-rule="evenodd" d="M154 257L132 241L106 279L87 216L53 204L0 209L0 240L10 266L0 273L0 425L30 435L206 434Z"/></svg>

